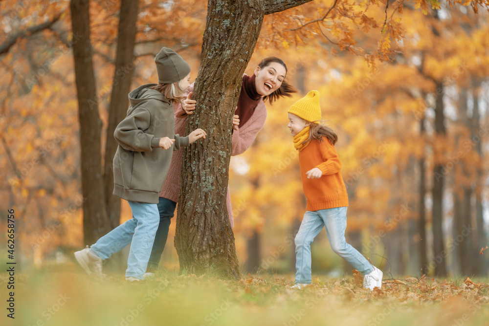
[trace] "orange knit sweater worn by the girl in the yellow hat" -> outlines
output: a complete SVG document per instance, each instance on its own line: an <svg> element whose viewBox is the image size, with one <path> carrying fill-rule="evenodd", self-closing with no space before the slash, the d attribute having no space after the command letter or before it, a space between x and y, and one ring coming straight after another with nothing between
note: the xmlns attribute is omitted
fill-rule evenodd
<svg viewBox="0 0 489 326"><path fill-rule="evenodd" d="M323 136L322 143L312 140L299 152L301 178L308 211L348 206L348 194L341 176L341 161L334 146ZM319 168L319 179L308 179L306 172Z"/></svg>

